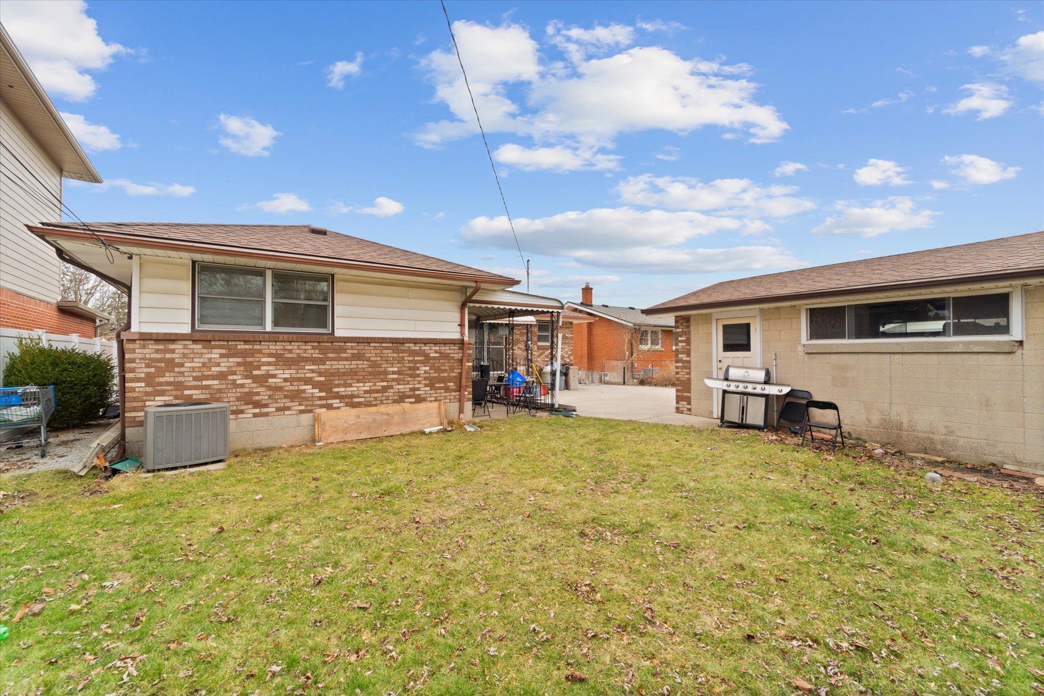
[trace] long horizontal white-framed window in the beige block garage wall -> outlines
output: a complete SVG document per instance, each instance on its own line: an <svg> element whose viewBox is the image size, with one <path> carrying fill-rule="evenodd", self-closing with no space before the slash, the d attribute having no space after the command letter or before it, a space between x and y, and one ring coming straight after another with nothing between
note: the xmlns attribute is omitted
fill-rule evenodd
<svg viewBox="0 0 1044 696"><path fill-rule="evenodd" d="M1018 288L1000 288L810 305L802 335L812 343L1020 338L1021 299Z"/></svg>

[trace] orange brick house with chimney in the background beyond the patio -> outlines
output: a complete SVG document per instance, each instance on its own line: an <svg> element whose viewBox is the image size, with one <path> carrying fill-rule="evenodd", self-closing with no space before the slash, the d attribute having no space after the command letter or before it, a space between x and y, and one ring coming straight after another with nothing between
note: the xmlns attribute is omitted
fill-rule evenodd
<svg viewBox="0 0 1044 696"><path fill-rule="evenodd" d="M586 284L579 303L566 309L591 317L573 329L573 364L589 382L632 384L674 370L674 319L648 316L634 307L594 304Z"/></svg>

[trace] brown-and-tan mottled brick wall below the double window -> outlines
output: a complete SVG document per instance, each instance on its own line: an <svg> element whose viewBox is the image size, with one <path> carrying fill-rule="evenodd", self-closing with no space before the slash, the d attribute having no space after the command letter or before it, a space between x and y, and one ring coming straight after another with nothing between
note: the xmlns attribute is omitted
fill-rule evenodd
<svg viewBox="0 0 1044 696"><path fill-rule="evenodd" d="M143 425L146 406L171 402L229 402L232 417L248 418L459 399L459 339L158 333L124 338L127 427Z"/></svg>

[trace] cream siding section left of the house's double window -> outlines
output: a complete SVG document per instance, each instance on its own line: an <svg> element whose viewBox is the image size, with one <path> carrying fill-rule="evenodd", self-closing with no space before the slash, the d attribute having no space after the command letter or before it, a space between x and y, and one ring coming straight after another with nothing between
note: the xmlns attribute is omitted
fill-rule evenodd
<svg viewBox="0 0 1044 696"><path fill-rule="evenodd" d="M192 262L182 259L140 259L133 284L137 318L133 331L188 333L192 321ZM134 303L132 303L134 305Z"/></svg>

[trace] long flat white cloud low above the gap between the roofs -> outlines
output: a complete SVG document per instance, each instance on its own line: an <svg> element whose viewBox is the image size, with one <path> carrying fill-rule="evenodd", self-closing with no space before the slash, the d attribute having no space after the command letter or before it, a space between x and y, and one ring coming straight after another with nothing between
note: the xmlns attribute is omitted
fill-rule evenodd
<svg viewBox="0 0 1044 696"><path fill-rule="evenodd" d="M515 230L523 248L536 254L566 257L570 259L566 264L568 266L582 264L628 272L696 273L792 268L799 265L792 256L778 246L680 246L716 232L739 232L745 226L745 220L714 217L694 211L637 211L626 207L515 220ZM469 220L460 229L460 238L472 247L515 248L504 216Z"/></svg>

